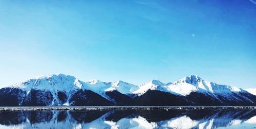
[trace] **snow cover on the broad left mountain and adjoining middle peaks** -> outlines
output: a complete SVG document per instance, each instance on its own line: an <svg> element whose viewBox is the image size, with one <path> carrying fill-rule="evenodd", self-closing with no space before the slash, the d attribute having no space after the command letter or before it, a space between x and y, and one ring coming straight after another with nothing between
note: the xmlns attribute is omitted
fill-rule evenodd
<svg viewBox="0 0 256 129"><path fill-rule="evenodd" d="M73 76L65 74L44 75L25 82L13 84L10 87L21 89L27 94L29 94L31 90L49 91L53 95L52 105L60 103L58 102L58 92L67 94L68 99L64 105L69 105L69 99L78 90L91 90L112 101L111 98L105 95L105 92L116 90L121 94L132 94L139 89L137 85L123 81L102 82L95 79L83 82Z"/></svg>

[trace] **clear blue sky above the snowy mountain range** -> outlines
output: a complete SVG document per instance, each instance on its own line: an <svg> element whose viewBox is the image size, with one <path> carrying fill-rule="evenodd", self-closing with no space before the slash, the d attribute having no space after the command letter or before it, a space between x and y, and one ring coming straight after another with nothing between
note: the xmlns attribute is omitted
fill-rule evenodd
<svg viewBox="0 0 256 129"><path fill-rule="evenodd" d="M58 73L256 88L256 1L0 0L0 88Z"/></svg>

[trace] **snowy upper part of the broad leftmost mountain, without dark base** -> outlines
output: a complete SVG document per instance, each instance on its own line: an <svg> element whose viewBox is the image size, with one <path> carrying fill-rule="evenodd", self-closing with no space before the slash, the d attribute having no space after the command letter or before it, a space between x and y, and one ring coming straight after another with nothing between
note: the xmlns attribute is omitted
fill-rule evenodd
<svg viewBox="0 0 256 129"><path fill-rule="evenodd" d="M39 76L25 82L16 83L10 86L12 89L20 89L27 95L31 91L47 91L53 97L52 105L59 104L60 94L66 94L70 99L78 89L84 89L84 84L80 80L70 75L52 74ZM67 100L68 100L67 99ZM55 102L55 103L54 103Z"/></svg>

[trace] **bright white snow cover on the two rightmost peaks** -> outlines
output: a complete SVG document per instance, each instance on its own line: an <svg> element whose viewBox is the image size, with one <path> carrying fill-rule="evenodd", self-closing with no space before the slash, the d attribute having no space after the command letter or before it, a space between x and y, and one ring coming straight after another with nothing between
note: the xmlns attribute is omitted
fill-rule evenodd
<svg viewBox="0 0 256 129"><path fill-rule="evenodd" d="M174 83L169 82L167 84L158 80L152 80L140 85L139 89L133 93L142 95L148 90L158 90L182 96L189 95L191 92L224 94L244 91L241 88L206 81L195 75L184 77Z"/></svg>

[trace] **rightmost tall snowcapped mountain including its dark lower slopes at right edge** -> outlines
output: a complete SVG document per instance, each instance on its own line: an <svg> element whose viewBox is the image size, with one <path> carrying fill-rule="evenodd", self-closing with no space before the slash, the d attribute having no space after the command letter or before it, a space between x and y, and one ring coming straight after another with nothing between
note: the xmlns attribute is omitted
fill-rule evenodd
<svg viewBox="0 0 256 129"><path fill-rule="evenodd" d="M241 88L206 81L195 75L184 77L168 85L168 89L199 105L206 105L207 103L211 103L211 105L251 103L254 105L255 102L255 96Z"/></svg>

